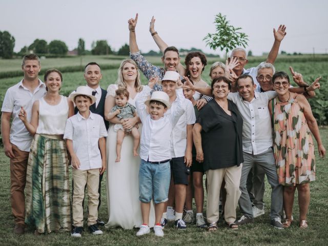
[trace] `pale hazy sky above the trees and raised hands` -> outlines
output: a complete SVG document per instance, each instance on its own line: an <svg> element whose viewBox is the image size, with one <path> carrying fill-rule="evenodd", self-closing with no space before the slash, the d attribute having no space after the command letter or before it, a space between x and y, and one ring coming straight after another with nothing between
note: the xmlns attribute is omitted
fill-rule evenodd
<svg viewBox="0 0 328 246"><path fill-rule="evenodd" d="M14 36L16 52L36 38L48 43L63 40L72 50L80 37L86 49L91 49L93 41L106 39L118 50L129 43L128 19L138 13L136 35L142 52L158 51L149 33L154 15L155 30L168 45L222 55L202 40L215 32L215 15L222 13L231 25L249 35L246 50L253 55L270 51L273 28L280 24L287 27L280 51L328 53L327 10L326 0L1 0L0 31Z"/></svg>

